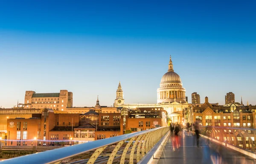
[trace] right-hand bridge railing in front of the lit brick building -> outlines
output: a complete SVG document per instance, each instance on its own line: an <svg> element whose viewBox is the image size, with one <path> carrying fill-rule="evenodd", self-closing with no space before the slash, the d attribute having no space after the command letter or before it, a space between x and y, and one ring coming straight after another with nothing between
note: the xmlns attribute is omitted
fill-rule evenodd
<svg viewBox="0 0 256 164"><path fill-rule="evenodd" d="M256 129L236 127L200 127L200 134L219 141L255 152ZM227 145L226 145L227 146Z"/></svg>

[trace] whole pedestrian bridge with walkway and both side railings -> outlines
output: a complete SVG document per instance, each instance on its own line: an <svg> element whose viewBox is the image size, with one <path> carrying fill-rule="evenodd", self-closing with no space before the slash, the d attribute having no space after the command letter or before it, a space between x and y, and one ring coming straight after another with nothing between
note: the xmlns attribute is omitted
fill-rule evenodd
<svg viewBox="0 0 256 164"><path fill-rule="evenodd" d="M2 161L2 164L256 164L256 129L201 127L179 137L173 151L169 127L106 138Z"/></svg>

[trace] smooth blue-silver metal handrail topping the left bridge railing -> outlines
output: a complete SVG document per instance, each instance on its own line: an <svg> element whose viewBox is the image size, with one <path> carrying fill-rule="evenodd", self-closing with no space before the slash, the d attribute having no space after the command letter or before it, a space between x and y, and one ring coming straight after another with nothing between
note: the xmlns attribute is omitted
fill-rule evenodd
<svg viewBox="0 0 256 164"><path fill-rule="evenodd" d="M17 164L17 163L24 163L24 164L52 164L55 162L62 161L66 158L70 158L76 155L79 155L84 152L90 152L92 150L96 150L98 148L106 147L111 144L115 144L121 141L126 141L128 139L138 137L141 135L145 135L151 132L158 132L157 130L162 130L165 132L166 129L169 127L159 127L149 130L144 130L140 132L129 133L125 135L120 135L112 138L105 138L102 140L96 140L93 142L88 142L84 144L77 144L70 147L63 147L55 150L48 150L45 152L35 153L31 155L25 155L17 158L11 158L6 161L2 161L1 164ZM169 129L168 129L169 130ZM152 133L151 133L152 134Z"/></svg>

